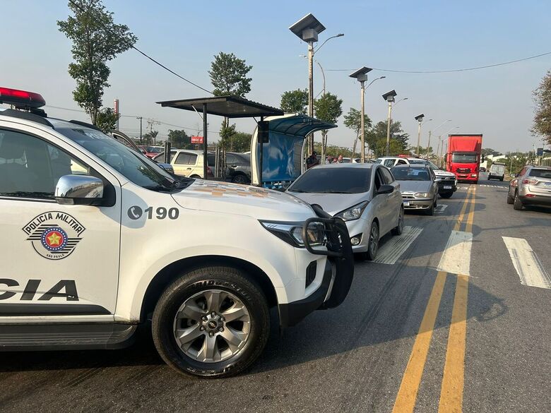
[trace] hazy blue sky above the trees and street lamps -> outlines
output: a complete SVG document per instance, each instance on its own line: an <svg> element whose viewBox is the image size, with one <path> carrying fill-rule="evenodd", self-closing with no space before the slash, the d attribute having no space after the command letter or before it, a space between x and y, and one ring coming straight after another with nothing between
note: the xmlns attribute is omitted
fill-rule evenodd
<svg viewBox="0 0 551 413"><path fill-rule="evenodd" d="M151 1L104 0L116 23L138 37L136 47L173 71L212 90L208 70L218 52L232 52L252 65L247 98L279 107L286 90L307 88L307 44L292 34L290 25L312 13L326 30L316 52L324 68L326 90L343 100L343 113L360 109L360 86L348 75L368 66L401 71L470 68L551 52L549 0L369 0L369 1ZM89 121L73 102L74 80L67 73L71 42L59 32L57 20L69 14L66 1L0 0L2 64L0 85L39 92L49 116ZM109 62L110 87L104 106L119 99L122 131L139 135L143 117L156 119L159 136L168 129L186 128L197 134L199 116L162 108L161 100L205 97L207 94L153 64L134 50ZM425 114L421 144L428 131L434 136L482 133L483 147L501 152L527 151L541 146L531 136L532 91L551 69L551 54L516 64L456 73L395 73L374 70L377 80L366 90L366 113L373 121L386 119L381 95L396 90L393 109L410 143L417 143L417 114ZM314 66L314 95L322 89L319 66ZM62 107L73 109L56 109ZM432 119L432 121L427 121ZM446 122L440 126L447 119ZM209 116L209 136L218 139L220 118ZM251 133L252 119L236 121L239 131ZM457 127L458 126L458 127ZM457 128L456 128L457 127ZM328 144L352 147L354 132L338 120Z"/></svg>

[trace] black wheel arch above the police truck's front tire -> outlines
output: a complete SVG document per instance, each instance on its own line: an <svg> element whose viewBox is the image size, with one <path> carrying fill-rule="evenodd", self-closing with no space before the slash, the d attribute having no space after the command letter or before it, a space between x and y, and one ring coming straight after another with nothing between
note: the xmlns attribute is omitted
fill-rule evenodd
<svg viewBox="0 0 551 413"><path fill-rule="evenodd" d="M196 270L205 266L226 266L243 270L249 280L260 287L268 300L268 307L278 304L277 294L270 278L261 268L253 263L249 263L249 261L242 260L241 258L228 256L196 256L170 263L153 277L142 300L140 321L146 321L148 315L155 309L155 304L157 304L162 292L165 291L172 281L182 274L182 271Z"/></svg>

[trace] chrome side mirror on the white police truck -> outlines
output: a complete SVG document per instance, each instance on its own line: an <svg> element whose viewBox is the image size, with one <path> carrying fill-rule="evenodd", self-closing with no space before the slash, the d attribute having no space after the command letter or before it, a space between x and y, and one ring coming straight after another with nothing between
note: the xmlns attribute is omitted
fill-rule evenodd
<svg viewBox="0 0 551 413"><path fill-rule="evenodd" d="M103 205L103 181L95 176L64 175L54 194L61 205Z"/></svg>

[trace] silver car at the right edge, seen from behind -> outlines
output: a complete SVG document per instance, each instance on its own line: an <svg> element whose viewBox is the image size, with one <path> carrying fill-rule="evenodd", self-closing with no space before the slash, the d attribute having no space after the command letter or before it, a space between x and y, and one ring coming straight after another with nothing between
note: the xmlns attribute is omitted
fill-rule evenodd
<svg viewBox="0 0 551 413"><path fill-rule="evenodd" d="M507 203L516 210L524 205L551 206L551 167L523 167L509 183Z"/></svg>

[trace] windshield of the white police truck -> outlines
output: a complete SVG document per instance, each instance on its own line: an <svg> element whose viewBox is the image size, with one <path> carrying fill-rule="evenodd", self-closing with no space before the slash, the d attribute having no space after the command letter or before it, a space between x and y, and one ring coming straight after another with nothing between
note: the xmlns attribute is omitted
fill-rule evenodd
<svg viewBox="0 0 551 413"><path fill-rule="evenodd" d="M174 187L176 180L155 162L126 148L122 143L100 131L85 128L57 128L56 130L117 169L136 185L155 191Z"/></svg>

